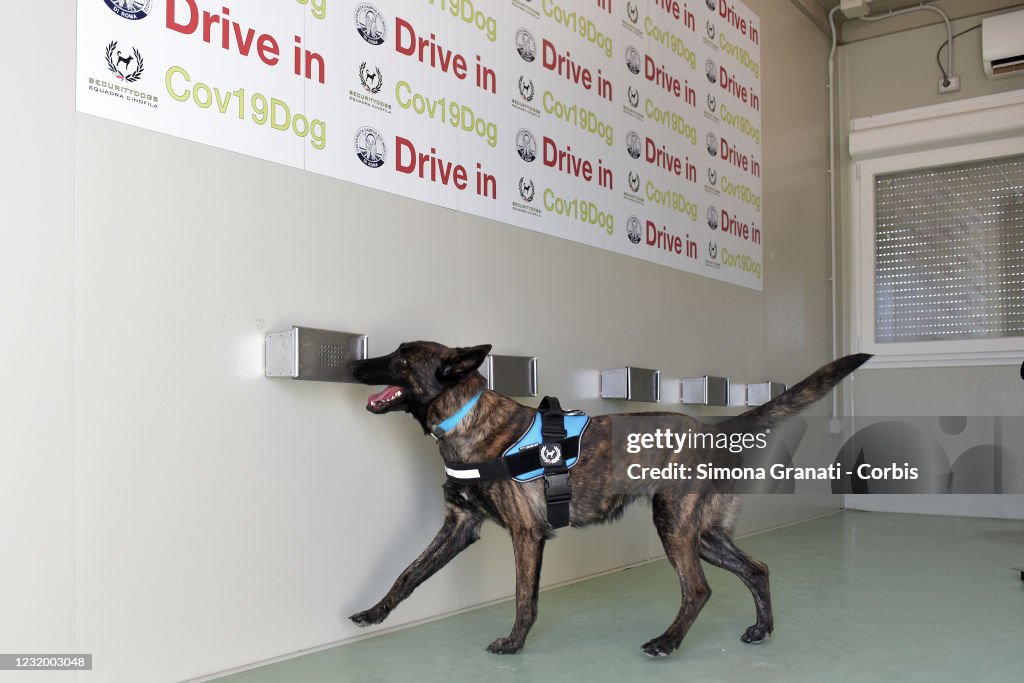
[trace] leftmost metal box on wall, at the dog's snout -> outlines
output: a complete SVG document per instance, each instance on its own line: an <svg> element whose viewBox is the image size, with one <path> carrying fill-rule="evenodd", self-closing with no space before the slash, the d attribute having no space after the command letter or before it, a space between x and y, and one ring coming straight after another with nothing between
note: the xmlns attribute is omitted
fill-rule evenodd
<svg viewBox="0 0 1024 683"><path fill-rule="evenodd" d="M367 336L293 327L266 335L263 350L267 377L355 382L352 360L367 357Z"/></svg>

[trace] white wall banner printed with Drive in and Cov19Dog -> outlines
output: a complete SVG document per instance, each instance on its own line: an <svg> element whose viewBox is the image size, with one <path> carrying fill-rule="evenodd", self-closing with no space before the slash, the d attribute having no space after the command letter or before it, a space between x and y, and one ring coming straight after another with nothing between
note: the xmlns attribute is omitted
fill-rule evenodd
<svg viewBox="0 0 1024 683"><path fill-rule="evenodd" d="M79 0L78 110L761 290L738 0Z"/></svg>

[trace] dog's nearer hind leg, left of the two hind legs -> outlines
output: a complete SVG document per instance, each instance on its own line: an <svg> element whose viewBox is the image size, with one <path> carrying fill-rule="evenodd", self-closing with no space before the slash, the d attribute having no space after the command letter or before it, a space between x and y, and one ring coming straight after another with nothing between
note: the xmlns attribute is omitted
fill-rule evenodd
<svg viewBox="0 0 1024 683"><path fill-rule="evenodd" d="M643 644L645 654L658 657L679 647L711 597L711 586L708 585L697 556L700 544L695 514L699 505L698 497L656 494L651 505L654 508L654 526L669 561L679 574L683 594L682 605L675 621L660 636Z"/></svg>

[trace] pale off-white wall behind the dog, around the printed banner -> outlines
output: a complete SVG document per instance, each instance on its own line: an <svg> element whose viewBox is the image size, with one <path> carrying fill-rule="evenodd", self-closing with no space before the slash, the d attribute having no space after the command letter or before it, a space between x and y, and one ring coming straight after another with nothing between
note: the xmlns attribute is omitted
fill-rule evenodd
<svg viewBox="0 0 1024 683"><path fill-rule="evenodd" d="M764 39L763 293L76 119L75 19L54 12L52 72L45 85L17 73L33 115L3 128L15 154L0 282L19 332L0 341L14 359L0 419L20 479L0 485L4 538L32 550L0 565L0 649L92 652L80 681L172 681L365 633L344 617L433 535L440 463L412 420L364 411L366 387L263 378L265 332L368 332L375 353L492 342L540 356L542 390L594 413L644 408L595 398L600 368L794 382L827 360L827 44L788 3L750 4ZM22 6L3 29L12 63L36 46ZM577 305L548 303L552 290ZM749 503L744 530L839 507ZM560 536L545 585L660 554L643 507ZM488 526L386 626L512 587L509 544Z"/></svg>

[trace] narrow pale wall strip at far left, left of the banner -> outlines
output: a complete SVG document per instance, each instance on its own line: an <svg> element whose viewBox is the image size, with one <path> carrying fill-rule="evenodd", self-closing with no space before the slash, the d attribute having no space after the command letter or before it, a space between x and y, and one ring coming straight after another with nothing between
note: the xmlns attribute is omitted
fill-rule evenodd
<svg viewBox="0 0 1024 683"><path fill-rule="evenodd" d="M41 45L38 7L6 11L5 63L62 63L11 70L0 106L0 650L74 651L75 12Z"/></svg>

